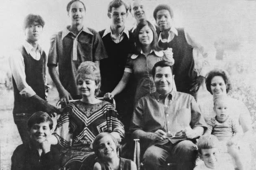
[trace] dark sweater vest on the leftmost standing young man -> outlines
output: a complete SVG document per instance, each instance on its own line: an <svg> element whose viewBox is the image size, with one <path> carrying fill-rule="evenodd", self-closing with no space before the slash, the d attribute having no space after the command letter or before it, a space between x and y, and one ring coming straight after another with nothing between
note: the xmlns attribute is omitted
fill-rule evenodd
<svg viewBox="0 0 256 170"><path fill-rule="evenodd" d="M40 57L40 60L35 60L30 54L26 52L26 49L22 46L20 49L24 58L26 82L35 91L35 93L46 100L45 87L43 79L43 62L46 58L46 53ZM20 95L20 91L17 89L16 82L13 78L13 92L14 92L14 107L13 114L15 113L34 113L41 111L41 107L35 104L30 98L23 98Z"/></svg>

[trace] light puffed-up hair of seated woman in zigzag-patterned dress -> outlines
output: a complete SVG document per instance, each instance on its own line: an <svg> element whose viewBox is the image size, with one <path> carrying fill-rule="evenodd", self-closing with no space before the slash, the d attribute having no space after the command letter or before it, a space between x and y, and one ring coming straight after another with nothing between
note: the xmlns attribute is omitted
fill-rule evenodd
<svg viewBox="0 0 256 170"><path fill-rule="evenodd" d="M76 85L78 85L78 80L82 79L91 79L95 81L95 84L98 85L98 88L95 89L95 96L97 96L100 92L100 70L93 62L82 62L78 67L76 74Z"/></svg>

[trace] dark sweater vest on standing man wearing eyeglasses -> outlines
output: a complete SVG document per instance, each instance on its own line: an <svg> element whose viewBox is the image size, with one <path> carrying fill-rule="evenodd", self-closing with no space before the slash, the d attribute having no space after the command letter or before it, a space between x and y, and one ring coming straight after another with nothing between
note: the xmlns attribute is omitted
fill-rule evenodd
<svg viewBox="0 0 256 170"><path fill-rule="evenodd" d="M100 36L105 30L99 32ZM100 60L100 73L102 78L101 90L111 92L121 80L129 53L135 51L134 39L129 32L129 39L125 35L120 43L115 43L111 34L102 38L108 58Z"/></svg>

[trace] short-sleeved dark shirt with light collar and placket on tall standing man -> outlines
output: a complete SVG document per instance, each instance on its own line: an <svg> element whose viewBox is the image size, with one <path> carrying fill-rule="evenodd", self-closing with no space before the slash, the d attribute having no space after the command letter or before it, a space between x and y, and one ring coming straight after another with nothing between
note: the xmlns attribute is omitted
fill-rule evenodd
<svg viewBox="0 0 256 170"><path fill-rule="evenodd" d="M85 61L100 61L107 58L107 54L98 32L83 27L75 36L69 28L52 36L48 66L59 66L61 84L75 98L79 95L75 81L78 66Z"/></svg>

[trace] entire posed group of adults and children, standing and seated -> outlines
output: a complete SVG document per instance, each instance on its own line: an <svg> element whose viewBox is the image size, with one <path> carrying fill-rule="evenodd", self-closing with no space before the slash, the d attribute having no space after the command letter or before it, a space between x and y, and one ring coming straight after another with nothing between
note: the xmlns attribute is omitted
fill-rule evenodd
<svg viewBox="0 0 256 170"><path fill-rule="evenodd" d="M12 170L247 170L251 120L245 105L228 97L228 74L206 75L204 66L198 72L193 48L207 60L206 48L174 27L169 5L154 9L156 25L144 5L112 0L111 24L96 32L84 25L85 4L70 1L71 24L52 36L48 57L38 44L44 20L25 18L26 40L9 59L13 117L23 142ZM136 20L130 30L129 11ZM47 66L63 109L46 101ZM199 105L204 79L213 99ZM114 98L116 107L98 97ZM130 160L132 139L140 139L143 165ZM203 161L196 165L198 155Z"/></svg>

